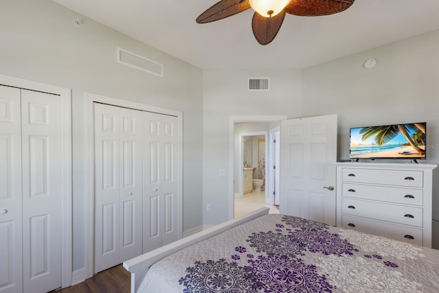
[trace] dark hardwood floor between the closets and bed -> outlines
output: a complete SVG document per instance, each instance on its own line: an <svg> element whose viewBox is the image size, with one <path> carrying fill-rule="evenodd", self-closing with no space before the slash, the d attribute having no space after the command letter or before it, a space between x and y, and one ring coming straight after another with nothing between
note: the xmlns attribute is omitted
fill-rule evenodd
<svg viewBox="0 0 439 293"><path fill-rule="evenodd" d="M120 264L99 272L82 283L50 293L128 293L130 282L130 273Z"/></svg>

